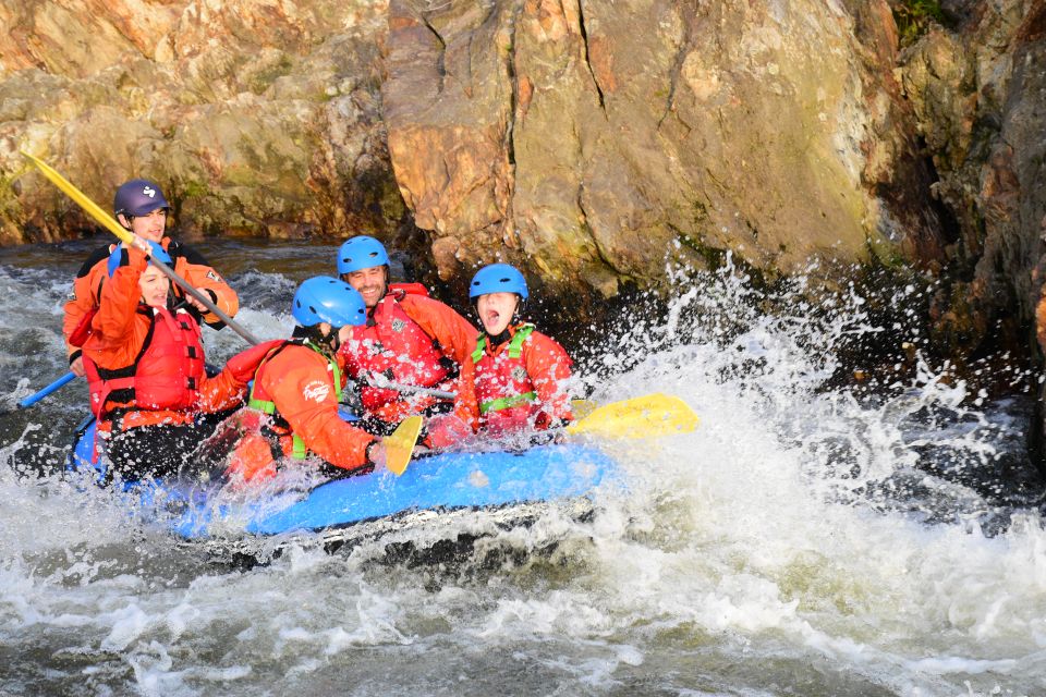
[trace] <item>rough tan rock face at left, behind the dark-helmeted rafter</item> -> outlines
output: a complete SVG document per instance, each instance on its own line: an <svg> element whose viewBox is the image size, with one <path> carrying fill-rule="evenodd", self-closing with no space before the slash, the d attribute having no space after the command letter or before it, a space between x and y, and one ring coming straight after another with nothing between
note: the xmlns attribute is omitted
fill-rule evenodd
<svg viewBox="0 0 1046 697"><path fill-rule="evenodd" d="M379 97L384 2L0 0L0 241L157 180L183 234L388 235L404 221Z"/></svg>

